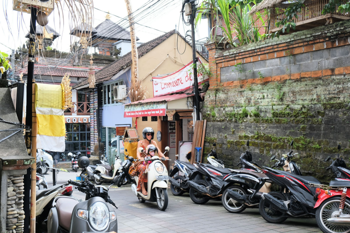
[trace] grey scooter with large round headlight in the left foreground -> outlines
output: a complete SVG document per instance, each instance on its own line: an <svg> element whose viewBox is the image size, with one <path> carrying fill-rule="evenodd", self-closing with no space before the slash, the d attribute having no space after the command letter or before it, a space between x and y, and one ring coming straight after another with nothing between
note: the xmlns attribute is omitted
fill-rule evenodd
<svg viewBox="0 0 350 233"><path fill-rule="evenodd" d="M89 165L89 158L80 158L80 168ZM85 201L58 196L52 202L48 217L48 233L58 232L117 232L117 215L114 202L104 186L95 186L90 181L68 181L85 193ZM111 184L112 185L112 184ZM113 205L113 206L112 206ZM117 208L117 207L116 207Z"/></svg>

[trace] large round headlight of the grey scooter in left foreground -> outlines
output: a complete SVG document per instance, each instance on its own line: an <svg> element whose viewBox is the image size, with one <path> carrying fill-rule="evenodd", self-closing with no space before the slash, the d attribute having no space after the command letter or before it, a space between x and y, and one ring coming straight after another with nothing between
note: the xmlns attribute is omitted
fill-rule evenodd
<svg viewBox="0 0 350 233"><path fill-rule="evenodd" d="M95 202L89 208L89 222L96 231L104 231L110 221L109 209L103 202Z"/></svg>

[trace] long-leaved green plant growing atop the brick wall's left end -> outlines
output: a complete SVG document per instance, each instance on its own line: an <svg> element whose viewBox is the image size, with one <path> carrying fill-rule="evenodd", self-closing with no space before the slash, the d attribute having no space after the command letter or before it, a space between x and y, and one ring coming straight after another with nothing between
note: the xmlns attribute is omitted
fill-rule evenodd
<svg viewBox="0 0 350 233"><path fill-rule="evenodd" d="M204 0L198 7L196 22L203 14L211 14L217 21L223 19L224 26L216 25L211 30L221 29L225 43L231 46L244 45L262 39L255 23L259 20L264 24L261 14L250 15L253 5L261 0ZM216 33L215 33L216 34ZM223 40L222 39L222 40Z"/></svg>

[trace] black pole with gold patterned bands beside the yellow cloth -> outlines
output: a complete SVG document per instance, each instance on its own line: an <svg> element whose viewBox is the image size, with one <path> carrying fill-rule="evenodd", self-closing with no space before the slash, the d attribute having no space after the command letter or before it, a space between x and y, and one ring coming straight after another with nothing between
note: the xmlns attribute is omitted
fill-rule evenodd
<svg viewBox="0 0 350 233"><path fill-rule="evenodd" d="M36 12L37 9L35 7L30 8L30 29L29 29L29 50L28 50L28 74L27 74L27 107L26 107L26 147L28 154L31 156L31 97L32 97L32 84L34 77L34 62L35 62L35 31L36 31ZM36 153L34 151L33 153ZM33 156L34 157L34 156ZM29 232L30 225L30 176L31 176L31 168L27 169L27 174L24 176L24 197L23 197L23 210L25 212L26 218L24 219L24 225L28 227L24 227L23 232ZM34 179L34 178L33 178Z"/></svg>

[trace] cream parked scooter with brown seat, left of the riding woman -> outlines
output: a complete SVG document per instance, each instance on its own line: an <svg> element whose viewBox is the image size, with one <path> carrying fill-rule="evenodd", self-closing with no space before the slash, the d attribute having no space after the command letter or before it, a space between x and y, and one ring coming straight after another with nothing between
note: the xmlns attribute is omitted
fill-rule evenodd
<svg viewBox="0 0 350 233"><path fill-rule="evenodd" d="M119 158L119 155L114 155L114 169L110 165L103 165L99 164L97 165L93 177L95 179L95 183L97 185L102 184L103 182L111 182L114 177L118 176L117 171L119 167L121 166L121 159Z"/></svg>

